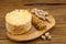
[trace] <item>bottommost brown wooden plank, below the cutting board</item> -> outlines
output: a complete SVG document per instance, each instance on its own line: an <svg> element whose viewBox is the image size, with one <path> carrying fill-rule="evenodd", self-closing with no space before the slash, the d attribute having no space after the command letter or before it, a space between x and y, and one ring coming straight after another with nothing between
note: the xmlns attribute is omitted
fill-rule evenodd
<svg viewBox="0 0 66 44"><path fill-rule="evenodd" d="M14 42L11 40L0 40L1 44L66 44L66 36L53 36L51 41L44 41L42 38L36 38L31 42Z"/></svg>

